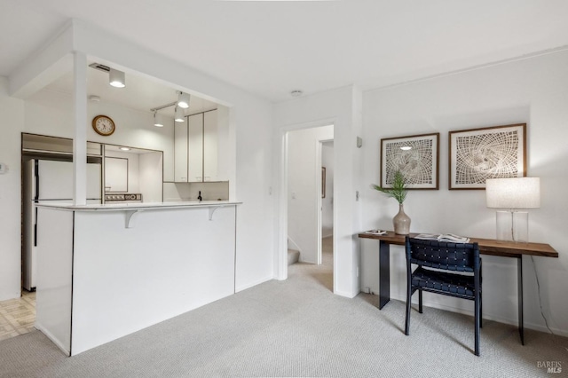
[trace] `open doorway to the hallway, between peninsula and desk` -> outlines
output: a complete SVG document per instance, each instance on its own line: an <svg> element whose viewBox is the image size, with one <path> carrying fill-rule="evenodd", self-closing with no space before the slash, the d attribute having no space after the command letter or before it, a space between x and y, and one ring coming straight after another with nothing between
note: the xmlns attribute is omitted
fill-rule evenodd
<svg viewBox="0 0 568 378"><path fill-rule="evenodd" d="M290 130L285 138L286 245L305 264L322 264L323 236L327 252L333 250L333 130L333 125Z"/></svg>

